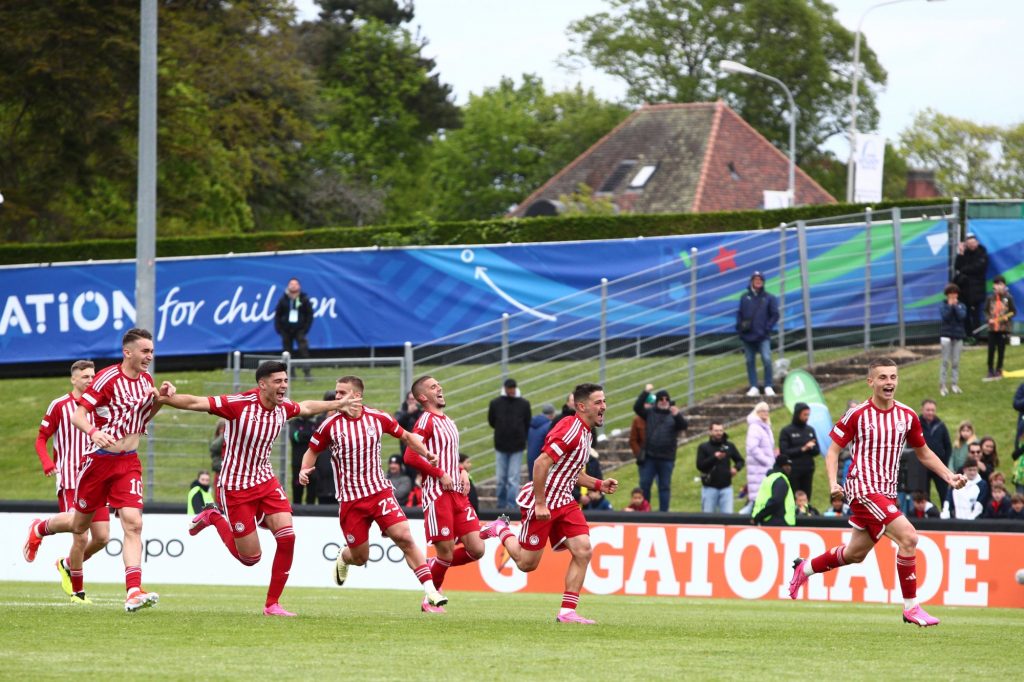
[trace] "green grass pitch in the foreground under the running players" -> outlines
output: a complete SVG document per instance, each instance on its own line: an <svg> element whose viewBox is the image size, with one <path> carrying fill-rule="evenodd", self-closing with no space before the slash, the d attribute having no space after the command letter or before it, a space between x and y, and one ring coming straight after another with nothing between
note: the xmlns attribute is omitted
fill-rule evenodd
<svg viewBox="0 0 1024 682"><path fill-rule="evenodd" d="M1020 625L1010 609L585 595L594 627L554 623L558 595L453 593L427 615L418 593L288 589L297 619L260 613L258 588L151 586L160 604L122 609L97 585L73 607L56 585L0 583L5 679L868 680L965 679L970 652Z"/></svg>

